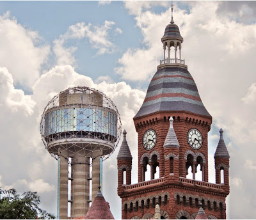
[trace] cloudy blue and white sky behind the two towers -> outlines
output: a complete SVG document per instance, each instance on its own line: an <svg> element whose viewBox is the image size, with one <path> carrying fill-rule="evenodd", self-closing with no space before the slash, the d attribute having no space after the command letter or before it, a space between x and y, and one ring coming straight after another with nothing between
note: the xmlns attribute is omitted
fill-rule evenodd
<svg viewBox="0 0 256 220"><path fill-rule="evenodd" d="M57 161L45 150L40 118L54 95L74 86L116 104L138 182L132 118L163 59L170 1L0 1L0 187L37 191L56 214ZM230 154L227 217L255 219L256 2L175 1L182 59L212 115L209 182L219 130ZM122 142L122 138L120 143ZM102 192L121 218L115 152L103 163Z"/></svg>

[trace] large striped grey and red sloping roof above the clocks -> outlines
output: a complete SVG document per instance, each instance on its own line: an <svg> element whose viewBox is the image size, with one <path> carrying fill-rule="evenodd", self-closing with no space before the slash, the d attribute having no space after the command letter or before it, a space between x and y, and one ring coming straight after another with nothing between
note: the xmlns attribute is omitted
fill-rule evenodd
<svg viewBox="0 0 256 220"><path fill-rule="evenodd" d="M187 69L177 66L157 70L134 118L158 111L186 111L211 117L204 107L193 77Z"/></svg>

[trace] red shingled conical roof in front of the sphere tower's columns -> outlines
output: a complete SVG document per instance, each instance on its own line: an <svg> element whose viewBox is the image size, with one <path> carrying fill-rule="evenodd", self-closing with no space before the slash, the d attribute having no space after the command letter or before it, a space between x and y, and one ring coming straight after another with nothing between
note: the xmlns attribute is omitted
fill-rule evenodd
<svg viewBox="0 0 256 220"><path fill-rule="evenodd" d="M100 189L95 196L92 205L85 216L85 219L114 219L109 209L109 204L104 199Z"/></svg>

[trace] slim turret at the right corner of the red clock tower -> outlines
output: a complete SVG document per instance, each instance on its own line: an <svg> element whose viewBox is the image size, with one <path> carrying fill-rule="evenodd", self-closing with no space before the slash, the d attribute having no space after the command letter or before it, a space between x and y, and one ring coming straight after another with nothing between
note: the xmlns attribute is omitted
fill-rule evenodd
<svg viewBox="0 0 256 220"><path fill-rule="evenodd" d="M223 139L223 130L220 129L220 141L216 148L216 152L214 154L215 160L215 177L216 177L216 184L224 184L224 189L229 193L229 154L227 150L227 146L225 145ZM222 171L223 170L223 171ZM221 180L221 172L223 172L223 180Z"/></svg>

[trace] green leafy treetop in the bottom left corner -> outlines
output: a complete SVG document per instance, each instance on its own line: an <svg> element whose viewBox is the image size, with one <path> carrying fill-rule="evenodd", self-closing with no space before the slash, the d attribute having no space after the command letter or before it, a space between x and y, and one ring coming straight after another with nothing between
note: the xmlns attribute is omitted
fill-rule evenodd
<svg viewBox="0 0 256 220"><path fill-rule="evenodd" d="M21 196L15 189L0 188L0 219L56 219L54 214L38 207L40 196L26 192Z"/></svg>

